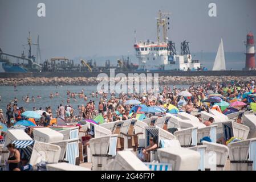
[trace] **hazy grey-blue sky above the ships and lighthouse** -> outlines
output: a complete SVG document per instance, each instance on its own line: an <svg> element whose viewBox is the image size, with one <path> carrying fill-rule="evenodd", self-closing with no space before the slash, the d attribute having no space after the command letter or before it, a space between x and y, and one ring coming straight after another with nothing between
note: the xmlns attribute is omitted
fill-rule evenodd
<svg viewBox="0 0 256 182"><path fill-rule="evenodd" d="M37 16L37 4L46 5L46 17ZM217 17L208 5L217 4ZM156 40L156 16L170 12L169 39L188 40L191 52L217 52L221 37L225 51L245 50L248 31L256 35L255 0L0 0L0 48L20 55L28 31L40 35L42 59L54 56L108 56L133 54L137 40ZM35 54L35 51L32 53Z"/></svg>

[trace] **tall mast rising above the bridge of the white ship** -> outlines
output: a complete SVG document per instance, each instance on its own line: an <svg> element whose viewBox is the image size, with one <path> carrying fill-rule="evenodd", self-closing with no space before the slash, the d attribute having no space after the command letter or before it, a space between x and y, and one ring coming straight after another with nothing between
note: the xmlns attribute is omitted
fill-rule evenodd
<svg viewBox="0 0 256 182"><path fill-rule="evenodd" d="M167 15L170 15L171 13L162 13L161 10L159 10L159 17L157 19L157 45L160 44L160 27L162 26L162 36L163 41L167 42L167 25L169 25L168 20L170 19L167 17ZM168 27L170 29L170 27Z"/></svg>

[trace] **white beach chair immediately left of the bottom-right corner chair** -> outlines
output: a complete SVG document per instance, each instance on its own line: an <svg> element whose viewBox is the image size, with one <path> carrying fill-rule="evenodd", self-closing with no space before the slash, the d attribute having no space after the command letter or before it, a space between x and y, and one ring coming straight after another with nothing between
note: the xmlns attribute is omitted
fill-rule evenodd
<svg viewBox="0 0 256 182"><path fill-rule="evenodd" d="M205 168L211 171L223 171L227 156L229 156L229 148L224 144L203 141L206 146Z"/></svg>

